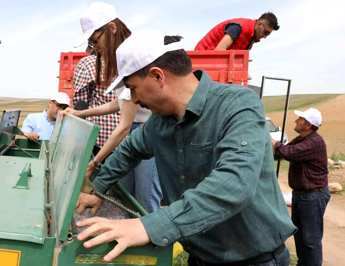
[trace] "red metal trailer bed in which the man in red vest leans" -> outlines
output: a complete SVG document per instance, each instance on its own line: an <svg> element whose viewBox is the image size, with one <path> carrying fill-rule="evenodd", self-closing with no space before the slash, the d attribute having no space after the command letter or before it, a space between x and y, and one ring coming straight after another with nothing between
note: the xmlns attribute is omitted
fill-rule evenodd
<svg viewBox="0 0 345 266"><path fill-rule="evenodd" d="M220 83L248 85L249 50L187 51L193 70L204 69L212 80ZM73 97L74 70L82 57L88 53L61 53L59 92Z"/></svg>

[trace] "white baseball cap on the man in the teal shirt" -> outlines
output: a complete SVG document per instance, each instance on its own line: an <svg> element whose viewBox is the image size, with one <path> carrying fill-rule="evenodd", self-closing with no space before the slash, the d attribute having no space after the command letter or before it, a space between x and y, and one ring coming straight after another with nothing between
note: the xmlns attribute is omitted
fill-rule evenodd
<svg viewBox="0 0 345 266"><path fill-rule="evenodd" d="M116 62L118 77L110 84L105 94L124 86L122 79L143 67L148 66L158 57L169 51L183 49L181 41L164 45L161 31L156 29L138 30L132 34L116 49Z"/></svg>

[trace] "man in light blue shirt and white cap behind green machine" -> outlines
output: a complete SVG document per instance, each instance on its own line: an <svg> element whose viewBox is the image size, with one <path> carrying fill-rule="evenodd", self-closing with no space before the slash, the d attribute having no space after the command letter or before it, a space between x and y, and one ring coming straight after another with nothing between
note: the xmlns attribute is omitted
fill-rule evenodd
<svg viewBox="0 0 345 266"><path fill-rule="evenodd" d="M43 110L42 113L29 114L25 118L21 131L25 136L36 141L50 140L59 110L65 110L69 104L70 99L66 93L56 93L50 99L47 110Z"/></svg>

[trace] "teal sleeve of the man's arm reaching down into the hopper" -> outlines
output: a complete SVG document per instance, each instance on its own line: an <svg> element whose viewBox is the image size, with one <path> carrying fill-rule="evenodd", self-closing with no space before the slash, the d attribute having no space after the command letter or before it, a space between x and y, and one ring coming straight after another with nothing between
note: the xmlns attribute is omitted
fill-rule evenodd
<svg viewBox="0 0 345 266"><path fill-rule="evenodd" d="M92 182L98 191L106 193L116 181L125 177L142 160L148 160L154 156L152 124L152 116L150 116L106 159L99 174Z"/></svg>

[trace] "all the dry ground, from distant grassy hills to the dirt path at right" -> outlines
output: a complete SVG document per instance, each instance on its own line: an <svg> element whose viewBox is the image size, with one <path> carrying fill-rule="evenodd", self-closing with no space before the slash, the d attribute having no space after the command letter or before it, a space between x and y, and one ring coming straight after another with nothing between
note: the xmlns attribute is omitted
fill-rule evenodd
<svg viewBox="0 0 345 266"><path fill-rule="evenodd" d="M49 99L6 99L0 98L1 110L21 109L19 128L25 117L30 113L42 112L47 108ZM268 116L276 126L283 125L285 96L264 97L263 104L266 116ZM296 115L294 110L305 111L309 107L317 108L323 117L322 126L319 128L327 144L329 157L342 158L345 160L345 94L318 94L318 95L291 95L289 101L289 111L285 133L288 139L292 140L297 133L294 131ZM340 157L339 157L340 156ZM279 173L279 184L283 192L291 189L287 184L288 163L282 161ZM345 187L345 169L329 169L329 182L339 182ZM345 189L343 192L332 195L332 199L325 213L324 221L324 266L345 265L343 252L345 249ZM286 241L290 250L291 265L296 265L296 256L293 237ZM174 266L186 266L187 253L179 255L174 260Z"/></svg>

